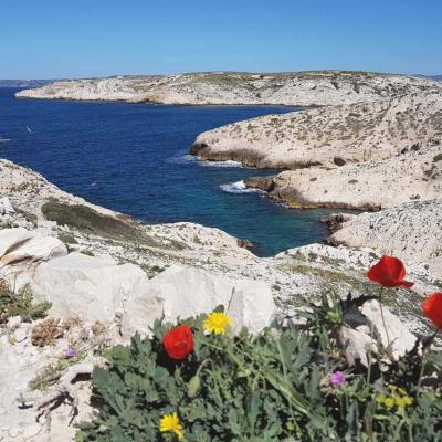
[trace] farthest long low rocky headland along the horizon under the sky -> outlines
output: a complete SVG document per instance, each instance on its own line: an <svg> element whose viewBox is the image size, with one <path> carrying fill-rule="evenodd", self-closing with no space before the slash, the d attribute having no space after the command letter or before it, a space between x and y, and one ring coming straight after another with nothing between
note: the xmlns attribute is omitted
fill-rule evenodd
<svg viewBox="0 0 442 442"><path fill-rule="evenodd" d="M429 78L370 72L200 72L61 81L22 91L17 96L192 105L323 106L371 102L439 87L438 82Z"/></svg>

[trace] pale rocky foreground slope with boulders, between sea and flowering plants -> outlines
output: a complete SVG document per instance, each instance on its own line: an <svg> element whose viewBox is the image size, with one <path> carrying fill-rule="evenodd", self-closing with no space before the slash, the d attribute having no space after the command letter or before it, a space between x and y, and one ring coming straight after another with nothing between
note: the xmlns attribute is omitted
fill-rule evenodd
<svg viewBox="0 0 442 442"><path fill-rule="evenodd" d="M157 317L173 320L230 303L238 326L260 329L271 316L293 315L324 292L378 291L366 270L381 248L360 248L362 240L351 244L355 249L312 244L260 259L220 230L138 224L6 160L0 160L0 196L2 284L14 296L29 290L34 302L52 304L50 323L13 316L0 324L0 439L6 441L72 440L71 420L90 412L87 373L102 364L103 349L127 341L135 329L147 333ZM336 235L352 222L335 233L335 242L344 242ZM397 235L394 252L412 241L401 243ZM418 235L414 241L418 249ZM428 255L417 256L404 255L415 286L392 291L387 303L402 324L423 332L421 299L442 285L425 265ZM65 357L67 348L75 348L74 358ZM72 383L77 375L86 377Z"/></svg>

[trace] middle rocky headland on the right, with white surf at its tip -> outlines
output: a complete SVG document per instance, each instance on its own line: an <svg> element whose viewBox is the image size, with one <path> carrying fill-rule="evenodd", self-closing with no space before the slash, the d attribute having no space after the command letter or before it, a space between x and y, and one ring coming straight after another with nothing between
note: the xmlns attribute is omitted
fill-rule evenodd
<svg viewBox="0 0 442 442"><path fill-rule="evenodd" d="M442 144L334 169L312 167L283 171L272 178L249 178L244 183L292 208L379 210L440 199Z"/></svg>

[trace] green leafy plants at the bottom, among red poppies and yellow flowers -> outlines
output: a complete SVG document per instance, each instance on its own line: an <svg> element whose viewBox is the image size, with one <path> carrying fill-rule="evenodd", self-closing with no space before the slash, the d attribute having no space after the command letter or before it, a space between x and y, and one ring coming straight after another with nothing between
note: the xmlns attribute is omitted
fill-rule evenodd
<svg viewBox="0 0 442 442"><path fill-rule="evenodd" d="M162 337L172 325L156 322L151 338L107 354L95 368L92 422L78 442L172 441L162 417L177 413L183 441L436 441L442 431L440 354L418 347L394 362L383 350L367 369L350 367L338 345L343 323L365 324L360 299L324 296L304 324L275 323L253 336L211 335L207 315L181 320L193 330L194 350L168 357ZM345 380L336 383L333 376Z"/></svg>

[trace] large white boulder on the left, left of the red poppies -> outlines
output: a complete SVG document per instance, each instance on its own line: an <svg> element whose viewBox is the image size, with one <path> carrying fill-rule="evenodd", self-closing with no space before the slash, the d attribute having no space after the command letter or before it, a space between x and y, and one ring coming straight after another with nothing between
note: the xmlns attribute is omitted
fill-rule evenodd
<svg viewBox="0 0 442 442"><path fill-rule="evenodd" d="M146 273L134 264L74 252L39 265L31 288L35 299L52 303L54 316L113 322L126 301L149 295L147 285Z"/></svg>

